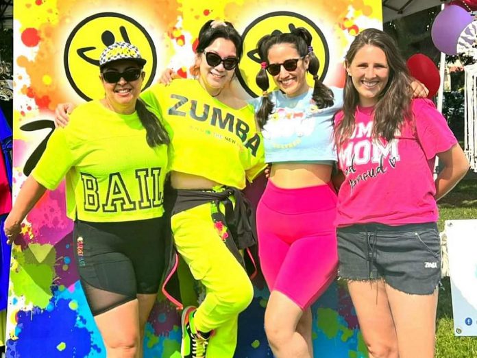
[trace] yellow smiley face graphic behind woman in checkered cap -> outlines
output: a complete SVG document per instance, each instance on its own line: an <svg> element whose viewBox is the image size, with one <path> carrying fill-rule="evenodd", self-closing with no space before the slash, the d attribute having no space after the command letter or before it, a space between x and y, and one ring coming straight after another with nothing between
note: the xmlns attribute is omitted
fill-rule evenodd
<svg viewBox="0 0 477 358"><path fill-rule="evenodd" d="M156 47L151 36L137 21L115 12L101 12L88 16L73 29L64 49L66 77L76 93L89 101L104 96L99 82L99 56L103 49L115 42L136 45L147 60L143 89L147 88L156 73Z"/></svg>

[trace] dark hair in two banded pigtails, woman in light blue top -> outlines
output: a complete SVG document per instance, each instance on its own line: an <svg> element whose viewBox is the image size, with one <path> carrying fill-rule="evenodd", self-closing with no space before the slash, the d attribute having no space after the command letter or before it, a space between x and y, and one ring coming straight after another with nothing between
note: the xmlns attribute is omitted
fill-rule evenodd
<svg viewBox="0 0 477 358"><path fill-rule="evenodd" d="M319 60L311 47L311 41L313 40L310 32L304 27L297 27L292 29L291 32L285 34L270 34L265 35L257 43L257 51L260 60L262 63L268 64L268 51L273 45L278 45L280 43L289 43L297 49L299 56L305 57L308 56L310 62L308 64L308 72L313 75L313 80L315 80L315 87L313 88L313 100L319 108L326 108L333 105L334 96L330 88L325 86L323 82L319 80L318 69L319 69ZM262 104L258 111L256 112L256 118L260 128L265 126L267 119L271 112L273 112L274 104L271 102L267 95L269 88L269 78L266 71L266 65L262 66L262 69L258 71L256 75L256 84L263 91Z"/></svg>

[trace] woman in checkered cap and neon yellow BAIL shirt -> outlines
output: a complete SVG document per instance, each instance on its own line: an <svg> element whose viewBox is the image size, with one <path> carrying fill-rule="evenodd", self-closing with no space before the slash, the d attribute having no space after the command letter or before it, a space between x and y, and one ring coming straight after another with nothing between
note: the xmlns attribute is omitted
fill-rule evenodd
<svg viewBox="0 0 477 358"><path fill-rule="evenodd" d="M169 135L138 99L145 60L129 43L101 54L106 96L55 130L5 220L14 242L47 189L66 177L80 282L108 357L142 357L145 324L164 271L161 237ZM118 324L121 322L121 324Z"/></svg>

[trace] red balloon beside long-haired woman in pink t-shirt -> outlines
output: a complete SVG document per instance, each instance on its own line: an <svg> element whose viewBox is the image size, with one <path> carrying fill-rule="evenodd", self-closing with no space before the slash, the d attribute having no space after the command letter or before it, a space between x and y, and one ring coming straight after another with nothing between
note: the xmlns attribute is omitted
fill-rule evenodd
<svg viewBox="0 0 477 358"><path fill-rule="evenodd" d="M428 88L428 98L434 97L439 90L439 84L441 84L439 69L435 63L422 53L411 56L406 63L411 75Z"/></svg>

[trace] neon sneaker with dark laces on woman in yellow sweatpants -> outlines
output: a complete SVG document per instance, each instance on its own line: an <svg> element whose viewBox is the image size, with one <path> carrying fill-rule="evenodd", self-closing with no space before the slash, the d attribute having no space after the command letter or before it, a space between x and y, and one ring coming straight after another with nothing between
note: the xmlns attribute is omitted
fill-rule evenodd
<svg viewBox="0 0 477 358"><path fill-rule="evenodd" d="M204 334L195 329L194 314L196 310L195 307L189 306L182 311L182 343L180 345L182 358L206 358L210 333Z"/></svg>

